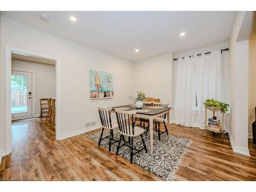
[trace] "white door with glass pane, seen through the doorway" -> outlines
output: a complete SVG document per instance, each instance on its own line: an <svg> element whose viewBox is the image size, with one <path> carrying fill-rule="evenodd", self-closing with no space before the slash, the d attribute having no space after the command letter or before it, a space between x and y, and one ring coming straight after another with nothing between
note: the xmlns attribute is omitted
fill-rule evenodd
<svg viewBox="0 0 256 192"><path fill-rule="evenodd" d="M32 117L32 73L12 71L12 119Z"/></svg>

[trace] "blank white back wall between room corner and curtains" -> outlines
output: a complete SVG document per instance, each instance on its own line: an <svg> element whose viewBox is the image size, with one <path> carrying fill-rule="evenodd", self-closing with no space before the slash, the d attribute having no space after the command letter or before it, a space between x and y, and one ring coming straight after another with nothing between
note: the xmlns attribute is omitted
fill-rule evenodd
<svg viewBox="0 0 256 192"><path fill-rule="evenodd" d="M137 91L172 105L172 53L134 62L134 94Z"/></svg>

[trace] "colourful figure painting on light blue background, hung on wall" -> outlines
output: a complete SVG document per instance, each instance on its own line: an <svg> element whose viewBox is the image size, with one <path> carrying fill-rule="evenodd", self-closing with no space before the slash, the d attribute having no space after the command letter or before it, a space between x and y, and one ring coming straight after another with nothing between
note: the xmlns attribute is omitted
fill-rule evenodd
<svg viewBox="0 0 256 192"><path fill-rule="evenodd" d="M90 70L90 98L104 99L113 97L112 73Z"/></svg>

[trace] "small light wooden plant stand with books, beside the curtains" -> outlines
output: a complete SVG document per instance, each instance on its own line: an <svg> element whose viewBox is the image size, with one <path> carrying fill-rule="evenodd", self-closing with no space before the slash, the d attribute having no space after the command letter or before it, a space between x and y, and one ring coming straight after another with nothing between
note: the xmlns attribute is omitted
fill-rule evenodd
<svg viewBox="0 0 256 192"><path fill-rule="evenodd" d="M221 133L221 138L224 137L224 113L221 112L222 109L214 109L212 106L204 106L205 108L205 136L207 135L207 130L213 133ZM207 119L207 110L212 111L212 115L215 116L215 112L221 112L221 130L215 130L208 126L208 119Z"/></svg>

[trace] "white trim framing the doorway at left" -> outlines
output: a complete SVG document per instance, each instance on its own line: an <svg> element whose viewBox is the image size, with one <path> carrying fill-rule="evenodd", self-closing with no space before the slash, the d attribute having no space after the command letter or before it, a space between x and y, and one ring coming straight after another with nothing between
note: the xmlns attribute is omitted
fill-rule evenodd
<svg viewBox="0 0 256 192"><path fill-rule="evenodd" d="M55 137L56 140L60 140L60 62L59 59L52 57L41 55L38 53L34 53L27 50L20 50L16 48L5 47L5 110L6 110L6 118L5 118L5 155L9 155L12 152L12 143L11 143L11 125L12 125L12 113L11 113L11 71L12 71L12 53L25 54L34 57L42 57L47 59L55 60L55 68L56 68L56 123L55 123Z"/></svg>

